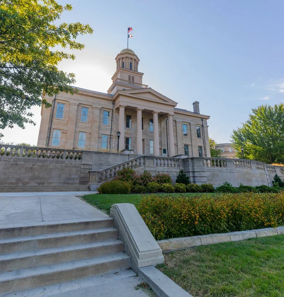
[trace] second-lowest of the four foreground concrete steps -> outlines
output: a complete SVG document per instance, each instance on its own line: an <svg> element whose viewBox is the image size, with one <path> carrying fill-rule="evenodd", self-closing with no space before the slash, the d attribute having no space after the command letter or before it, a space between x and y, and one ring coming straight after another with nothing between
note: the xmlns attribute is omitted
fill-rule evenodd
<svg viewBox="0 0 284 297"><path fill-rule="evenodd" d="M6 253L0 254L0 271L11 271L15 268L28 269L35 266L98 257L123 251L123 242L112 239L75 246Z"/></svg>

